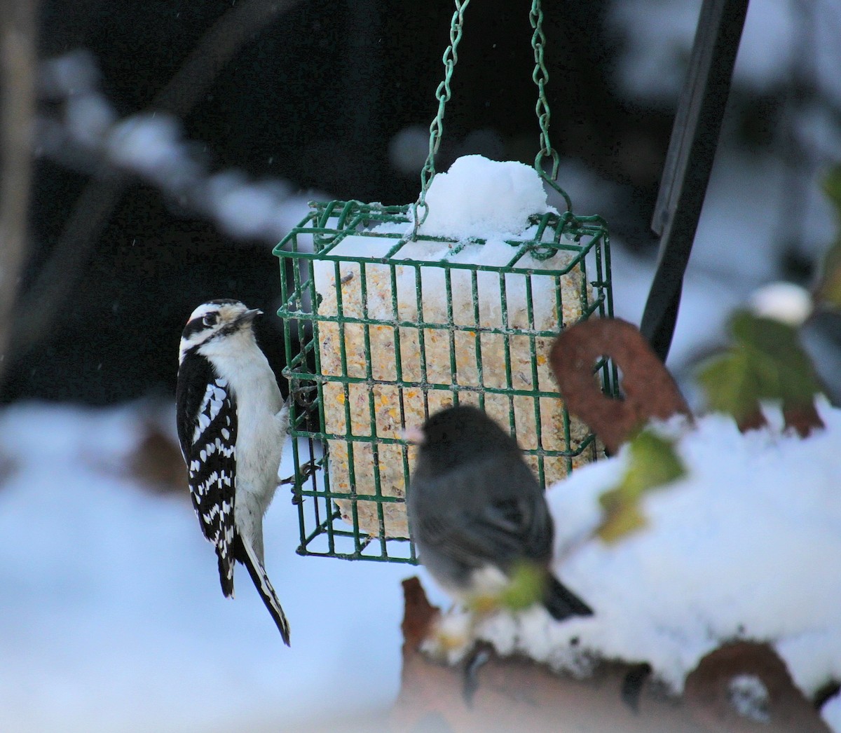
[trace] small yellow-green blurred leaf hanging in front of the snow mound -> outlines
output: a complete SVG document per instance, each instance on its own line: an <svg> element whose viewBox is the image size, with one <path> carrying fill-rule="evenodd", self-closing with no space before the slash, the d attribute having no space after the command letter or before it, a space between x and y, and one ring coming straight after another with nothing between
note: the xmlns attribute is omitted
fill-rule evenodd
<svg viewBox="0 0 841 733"><path fill-rule="evenodd" d="M628 465L620 483L599 497L604 519L596 534L615 542L645 526L639 509L643 493L661 488L684 477L686 468L674 450L674 443L651 430L643 430L631 441Z"/></svg>

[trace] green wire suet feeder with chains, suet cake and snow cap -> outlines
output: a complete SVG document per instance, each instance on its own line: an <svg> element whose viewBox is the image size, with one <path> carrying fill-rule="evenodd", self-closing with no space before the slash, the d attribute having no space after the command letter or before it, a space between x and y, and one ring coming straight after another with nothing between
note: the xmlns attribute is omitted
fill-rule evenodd
<svg viewBox="0 0 841 733"><path fill-rule="evenodd" d="M414 562L405 487L415 448L402 430L453 403L478 404L510 430L543 485L599 452L569 417L547 358L563 327L612 314L609 240L604 222L572 214L542 171L544 157L553 177L558 167L548 109L534 167L465 156L435 174L466 4L453 15L418 202L311 203L274 250L291 433L305 439L293 451L301 554ZM566 211L547 203L544 182ZM609 368L599 368L608 387ZM304 477L310 463L325 470Z"/></svg>

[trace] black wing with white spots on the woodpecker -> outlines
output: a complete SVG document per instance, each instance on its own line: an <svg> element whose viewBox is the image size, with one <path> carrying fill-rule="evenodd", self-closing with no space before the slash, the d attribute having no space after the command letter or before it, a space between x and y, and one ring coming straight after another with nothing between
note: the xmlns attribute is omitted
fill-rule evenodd
<svg viewBox="0 0 841 733"><path fill-rule="evenodd" d="M193 509L204 536L216 549L222 592L230 596L236 535L235 395L208 361L188 354L178 369L176 403L178 439L188 467Z"/></svg>

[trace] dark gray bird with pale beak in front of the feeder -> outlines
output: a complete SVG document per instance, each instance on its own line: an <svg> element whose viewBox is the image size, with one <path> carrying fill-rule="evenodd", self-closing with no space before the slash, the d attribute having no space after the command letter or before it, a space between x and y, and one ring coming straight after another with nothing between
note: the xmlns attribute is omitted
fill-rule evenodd
<svg viewBox="0 0 841 733"><path fill-rule="evenodd" d="M420 444L407 495L412 535L421 562L447 593L465 600L499 591L529 563L546 573L542 603L555 619L593 613L549 571L552 516L516 440L466 405L407 432Z"/></svg>

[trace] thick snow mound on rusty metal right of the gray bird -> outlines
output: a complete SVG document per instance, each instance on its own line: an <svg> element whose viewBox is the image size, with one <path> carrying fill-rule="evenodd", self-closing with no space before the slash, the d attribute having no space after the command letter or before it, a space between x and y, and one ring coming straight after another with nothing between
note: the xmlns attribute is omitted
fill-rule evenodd
<svg viewBox="0 0 841 733"><path fill-rule="evenodd" d="M712 414L677 437L686 477L643 499L648 526L608 545L590 539L598 498L627 450L577 470L547 492L557 527L555 571L595 609L553 622L542 609L498 617L480 634L585 673L592 660L649 662L675 693L724 641L768 641L811 696L841 678L841 410L805 440L775 425L740 434Z"/></svg>

